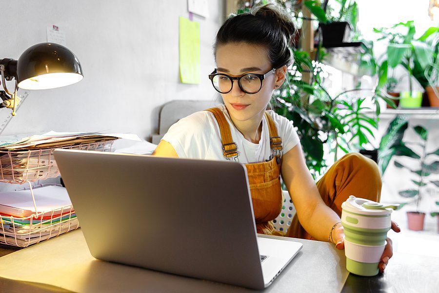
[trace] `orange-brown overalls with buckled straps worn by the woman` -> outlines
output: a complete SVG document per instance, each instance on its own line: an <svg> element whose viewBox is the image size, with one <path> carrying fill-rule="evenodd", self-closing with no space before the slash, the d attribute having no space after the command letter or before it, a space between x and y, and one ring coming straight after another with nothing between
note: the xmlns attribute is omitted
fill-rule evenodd
<svg viewBox="0 0 439 293"><path fill-rule="evenodd" d="M220 126L224 157L238 156L229 124L222 111L219 108L210 108L207 111L214 114ZM270 147L276 156L268 162L244 164L247 168L257 232L311 239L300 225L297 213L286 234L274 229L273 220L279 215L283 202L280 188L282 141L272 117L267 112L265 118L269 129ZM317 188L324 203L341 216L341 204L350 195L379 202L381 184L379 169L374 161L358 153L349 153L329 168L317 182Z"/></svg>

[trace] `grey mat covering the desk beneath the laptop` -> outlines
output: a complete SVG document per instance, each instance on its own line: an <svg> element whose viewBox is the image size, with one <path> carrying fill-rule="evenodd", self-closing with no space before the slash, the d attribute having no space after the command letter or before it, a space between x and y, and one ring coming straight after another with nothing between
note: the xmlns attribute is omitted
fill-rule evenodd
<svg viewBox="0 0 439 293"><path fill-rule="evenodd" d="M285 239L285 238L284 238ZM340 292L348 277L344 251L290 239L302 250L263 292ZM245 288L96 260L81 230L0 257L6 292L250 292Z"/></svg>

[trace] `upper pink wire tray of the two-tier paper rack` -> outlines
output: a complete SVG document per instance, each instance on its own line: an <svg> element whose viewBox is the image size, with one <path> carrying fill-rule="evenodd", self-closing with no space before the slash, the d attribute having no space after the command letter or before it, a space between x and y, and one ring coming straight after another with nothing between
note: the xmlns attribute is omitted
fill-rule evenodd
<svg viewBox="0 0 439 293"><path fill-rule="evenodd" d="M25 151L0 151L0 182L23 184L60 176L53 157L56 148L111 151L114 140L73 146L52 147Z"/></svg>

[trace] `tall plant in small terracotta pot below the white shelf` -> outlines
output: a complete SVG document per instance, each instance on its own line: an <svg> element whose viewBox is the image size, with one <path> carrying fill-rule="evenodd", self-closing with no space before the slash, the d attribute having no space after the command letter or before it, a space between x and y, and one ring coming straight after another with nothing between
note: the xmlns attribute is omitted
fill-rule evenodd
<svg viewBox="0 0 439 293"><path fill-rule="evenodd" d="M397 116L389 125L387 133L383 136L380 144L380 166L382 173L388 166L390 159L395 156L406 156L414 159L414 164L410 167L395 160L395 166L409 170L416 179L411 181L416 188L409 188L399 191L399 195L404 198L414 198L416 209L407 212L408 228L410 230L423 230L425 213L419 211L419 204L422 199L424 189L428 185L439 187L439 181L430 180L431 174L439 174L439 161L431 161L434 155L439 155L439 148L436 151L427 153L426 146L428 140L428 131L422 126L415 126L413 129L420 137L420 143L404 143L402 138L405 130L408 128L407 118ZM419 155L408 145L419 146L421 154ZM413 167L416 166L416 167Z"/></svg>

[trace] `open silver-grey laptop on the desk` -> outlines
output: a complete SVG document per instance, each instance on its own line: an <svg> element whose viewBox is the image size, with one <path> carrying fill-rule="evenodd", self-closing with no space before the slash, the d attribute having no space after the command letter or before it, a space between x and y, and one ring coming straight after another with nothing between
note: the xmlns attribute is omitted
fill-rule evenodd
<svg viewBox="0 0 439 293"><path fill-rule="evenodd" d="M97 259L263 289L302 248L258 237L242 164L64 149L54 156Z"/></svg>

